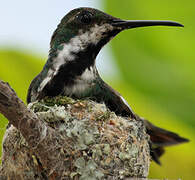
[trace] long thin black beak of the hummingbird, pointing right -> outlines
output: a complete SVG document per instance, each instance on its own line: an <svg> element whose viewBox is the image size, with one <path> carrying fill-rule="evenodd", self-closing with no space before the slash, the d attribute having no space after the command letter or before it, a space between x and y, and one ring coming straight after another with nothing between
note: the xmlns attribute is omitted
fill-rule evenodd
<svg viewBox="0 0 195 180"><path fill-rule="evenodd" d="M174 21L152 21L152 20L120 20L114 19L112 20L112 25L115 27L119 27L122 29L131 29L137 27L145 27L145 26L179 26L184 27L182 24L174 22Z"/></svg>

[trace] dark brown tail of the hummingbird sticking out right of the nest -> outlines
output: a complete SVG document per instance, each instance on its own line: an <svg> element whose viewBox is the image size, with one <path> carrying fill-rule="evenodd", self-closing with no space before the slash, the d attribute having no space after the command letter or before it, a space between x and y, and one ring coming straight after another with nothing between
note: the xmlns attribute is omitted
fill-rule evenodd
<svg viewBox="0 0 195 180"><path fill-rule="evenodd" d="M154 126L147 120L144 120L144 124L146 126L146 131L150 136L151 157L159 165L161 164L159 158L165 152L164 147L189 142L188 139L183 138L174 132Z"/></svg>

